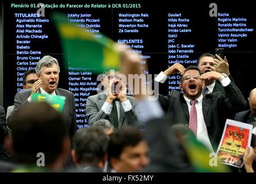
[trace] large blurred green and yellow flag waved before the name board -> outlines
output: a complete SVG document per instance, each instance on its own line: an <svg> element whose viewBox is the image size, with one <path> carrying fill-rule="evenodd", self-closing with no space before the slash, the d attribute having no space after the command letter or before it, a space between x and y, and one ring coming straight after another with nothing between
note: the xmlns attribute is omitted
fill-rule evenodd
<svg viewBox="0 0 256 184"><path fill-rule="evenodd" d="M62 13L53 13L51 17L66 53L64 59L67 68L87 68L99 74L104 70L119 70L121 55L113 40L101 33L93 33L91 29L81 28L74 22L68 22Z"/></svg>

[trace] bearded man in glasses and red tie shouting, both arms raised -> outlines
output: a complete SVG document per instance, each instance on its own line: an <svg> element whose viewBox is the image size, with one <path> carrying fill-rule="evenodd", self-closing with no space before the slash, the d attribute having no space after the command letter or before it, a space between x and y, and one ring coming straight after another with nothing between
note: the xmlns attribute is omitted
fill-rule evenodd
<svg viewBox="0 0 256 184"><path fill-rule="evenodd" d="M185 69L178 63L161 72L155 81L163 83L169 75L178 72L182 74L179 87L184 94L173 90L167 96L159 95L158 100L163 110L169 115L171 123L185 124L193 129L198 140L207 145L210 150L216 150L215 145L219 144L226 118L246 106L243 94L228 76L216 71L201 75L198 67L189 66ZM220 81L227 97L220 92L203 97L204 81L208 79Z"/></svg>

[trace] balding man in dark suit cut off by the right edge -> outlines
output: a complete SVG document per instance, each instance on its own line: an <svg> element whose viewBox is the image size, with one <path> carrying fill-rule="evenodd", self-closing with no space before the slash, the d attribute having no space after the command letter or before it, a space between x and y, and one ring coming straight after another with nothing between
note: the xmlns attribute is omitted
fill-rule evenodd
<svg viewBox="0 0 256 184"><path fill-rule="evenodd" d="M235 115L235 120L255 125L256 124L256 88L254 88L250 92L249 105L250 105L250 110L237 113Z"/></svg>

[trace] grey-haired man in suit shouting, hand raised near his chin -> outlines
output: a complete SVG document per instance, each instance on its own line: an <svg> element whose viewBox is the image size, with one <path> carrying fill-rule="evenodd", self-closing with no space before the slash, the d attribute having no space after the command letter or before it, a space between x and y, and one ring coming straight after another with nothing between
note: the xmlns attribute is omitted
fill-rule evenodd
<svg viewBox="0 0 256 184"><path fill-rule="evenodd" d="M20 91L14 98L15 112L21 105L31 102L33 93L62 95L66 97L62 115L72 137L77 130L74 95L70 91L58 88L60 67L58 60L52 56L44 56L36 66L36 75L39 78L32 89ZM42 114L45 116L47 114ZM39 117L40 118L40 117ZM12 125L8 125L12 129Z"/></svg>

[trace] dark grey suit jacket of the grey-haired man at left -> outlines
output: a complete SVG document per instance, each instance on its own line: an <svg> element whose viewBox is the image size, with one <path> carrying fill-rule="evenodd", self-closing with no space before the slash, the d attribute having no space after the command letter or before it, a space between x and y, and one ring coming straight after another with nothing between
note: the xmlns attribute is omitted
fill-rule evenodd
<svg viewBox="0 0 256 184"><path fill-rule="evenodd" d="M28 103L28 97L30 96L31 91L32 89L28 89L28 90L20 91L15 95L13 112L15 112L21 105ZM64 102L64 107L62 111L62 116L64 120L67 122L67 128L68 128L68 131L70 132L70 137L73 137L75 131L77 130L77 117L75 112L74 95L72 92L61 89L61 88L57 88L55 92L56 92L56 95L61 95L66 97L66 101ZM39 93L41 93L40 90L39 90ZM12 129L12 125L8 124L8 126Z"/></svg>

